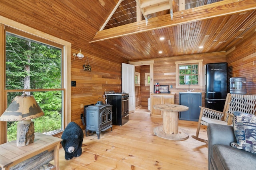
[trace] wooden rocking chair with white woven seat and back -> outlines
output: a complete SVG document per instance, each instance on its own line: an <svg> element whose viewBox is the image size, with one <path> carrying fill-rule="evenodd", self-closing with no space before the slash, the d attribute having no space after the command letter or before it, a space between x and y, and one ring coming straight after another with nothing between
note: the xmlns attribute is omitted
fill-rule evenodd
<svg viewBox="0 0 256 170"><path fill-rule="evenodd" d="M196 129L196 135L192 135L192 138L208 144L208 141L199 138L200 126L208 125L209 123L232 125L234 111L241 111L244 113L254 114L256 113L256 96L254 95L242 95L242 94L227 94L226 102L223 111L216 111L201 107L198 126Z"/></svg>

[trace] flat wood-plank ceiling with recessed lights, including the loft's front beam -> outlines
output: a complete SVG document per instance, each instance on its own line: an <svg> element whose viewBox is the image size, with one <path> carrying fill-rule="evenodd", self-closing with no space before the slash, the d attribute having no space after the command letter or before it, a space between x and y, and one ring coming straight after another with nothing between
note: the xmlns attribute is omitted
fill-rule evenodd
<svg viewBox="0 0 256 170"><path fill-rule="evenodd" d="M91 43L130 61L226 51L254 33L255 4L256 0L224 0L175 12L173 20L166 14L149 19L148 25L140 21L105 29Z"/></svg>

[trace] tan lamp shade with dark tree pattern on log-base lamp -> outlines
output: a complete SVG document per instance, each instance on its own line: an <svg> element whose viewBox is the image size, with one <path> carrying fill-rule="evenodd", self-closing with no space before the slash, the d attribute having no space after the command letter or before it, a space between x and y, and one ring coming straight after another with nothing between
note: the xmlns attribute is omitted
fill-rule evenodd
<svg viewBox="0 0 256 170"><path fill-rule="evenodd" d="M22 121L41 117L44 112L36 102L34 96L16 96L9 107L0 117L0 121Z"/></svg>

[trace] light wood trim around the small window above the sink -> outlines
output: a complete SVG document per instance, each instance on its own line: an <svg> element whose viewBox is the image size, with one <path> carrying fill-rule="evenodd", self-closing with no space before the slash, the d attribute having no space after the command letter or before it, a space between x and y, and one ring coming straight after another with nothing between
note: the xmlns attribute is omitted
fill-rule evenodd
<svg viewBox="0 0 256 170"><path fill-rule="evenodd" d="M190 60L190 61L176 61L176 88L188 88L188 85L180 85L179 83L179 64L190 64L198 63L198 85L190 85L192 89L202 89L204 88L204 74L203 74L203 60Z"/></svg>

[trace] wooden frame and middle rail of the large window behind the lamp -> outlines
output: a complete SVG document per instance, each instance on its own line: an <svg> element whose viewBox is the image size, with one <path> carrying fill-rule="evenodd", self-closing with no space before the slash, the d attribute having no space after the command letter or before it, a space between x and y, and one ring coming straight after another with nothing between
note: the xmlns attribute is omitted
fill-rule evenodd
<svg viewBox="0 0 256 170"><path fill-rule="evenodd" d="M52 35L49 35L47 33L38 31L34 28L28 27L26 25L23 25L21 23L18 23L16 21L10 20L8 18L0 16L0 48L2 49L2 53L0 53L0 67L1 67L1 74L0 74L0 115L6 110L7 108L7 93L8 92L22 92L23 90L6 90L5 89L5 27L10 27L10 29L17 30L20 32L24 32L24 34L29 34L33 39L36 40L36 38L44 39L46 41L50 41L52 43L56 43L58 45L61 45L63 48L62 50L62 88L63 90L63 129L68 125L68 123L71 121L71 43L68 41L64 41L62 39L59 39L58 37L54 37ZM10 32L10 31L8 31ZM57 90L57 89L52 89ZM58 89L59 90L59 89ZM30 91L36 91L36 90L30 90ZM40 90L38 90L40 91ZM62 132L56 133L53 136L60 137L62 135ZM0 121L0 144L6 143L7 141L7 123Z"/></svg>

